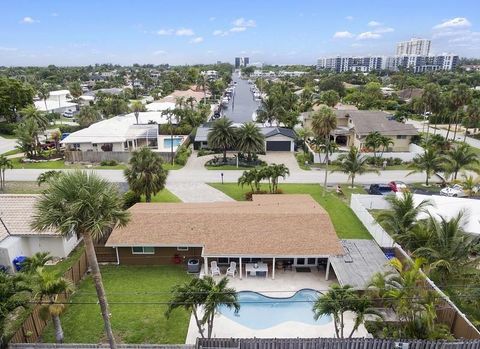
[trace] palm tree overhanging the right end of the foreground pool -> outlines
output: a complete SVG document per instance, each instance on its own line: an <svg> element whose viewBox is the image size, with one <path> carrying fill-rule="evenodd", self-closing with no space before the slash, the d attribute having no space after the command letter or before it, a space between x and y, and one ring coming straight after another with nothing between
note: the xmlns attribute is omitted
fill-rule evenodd
<svg viewBox="0 0 480 349"><path fill-rule="evenodd" d="M313 304L313 318L318 320L322 316L331 315L336 337L344 338L344 315L352 309L352 305L357 299L352 286L332 284L329 290L319 296Z"/></svg>

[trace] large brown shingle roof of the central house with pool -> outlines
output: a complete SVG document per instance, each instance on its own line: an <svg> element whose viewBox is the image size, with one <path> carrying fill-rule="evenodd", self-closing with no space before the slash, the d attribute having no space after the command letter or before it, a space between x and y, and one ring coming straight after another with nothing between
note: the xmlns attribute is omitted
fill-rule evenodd
<svg viewBox="0 0 480 349"><path fill-rule="evenodd" d="M250 202L139 203L106 246L203 246L205 256L343 254L328 213L310 195Z"/></svg>

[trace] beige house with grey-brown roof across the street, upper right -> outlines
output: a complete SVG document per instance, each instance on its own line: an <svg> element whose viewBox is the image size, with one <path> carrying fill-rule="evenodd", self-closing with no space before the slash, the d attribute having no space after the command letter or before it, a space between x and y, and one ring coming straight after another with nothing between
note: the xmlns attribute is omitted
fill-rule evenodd
<svg viewBox="0 0 480 349"><path fill-rule="evenodd" d="M393 145L389 152L408 152L412 137L418 134L410 124L403 124L392 119L392 115L383 111L372 110L334 110L337 116L337 128L331 133L332 139L339 146L365 148L365 139L372 132L379 132L389 137ZM312 113L303 113L303 124L311 128Z"/></svg>

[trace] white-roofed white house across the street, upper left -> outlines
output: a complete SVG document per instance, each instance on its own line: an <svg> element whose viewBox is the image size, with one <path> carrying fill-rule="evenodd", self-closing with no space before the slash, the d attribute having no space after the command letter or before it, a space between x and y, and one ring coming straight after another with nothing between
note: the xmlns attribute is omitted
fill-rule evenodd
<svg viewBox="0 0 480 349"><path fill-rule="evenodd" d="M167 124L161 112L140 112L115 116L68 135L62 143L67 150L128 152L140 147L158 149L158 125Z"/></svg>

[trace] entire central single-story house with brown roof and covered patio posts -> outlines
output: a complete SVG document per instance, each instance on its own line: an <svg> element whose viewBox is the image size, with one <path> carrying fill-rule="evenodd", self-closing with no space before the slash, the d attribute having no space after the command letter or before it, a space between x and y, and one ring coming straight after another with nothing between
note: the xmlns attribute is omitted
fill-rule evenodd
<svg viewBox="0 0 480 349"><path fill-rule="evenodd" d="M345 253L328 213L310 195L254 195L252 201L137 203L130 222L113 229L106 247L118 264L263 262L275 277L277 262L327 266Z"/></svg>

